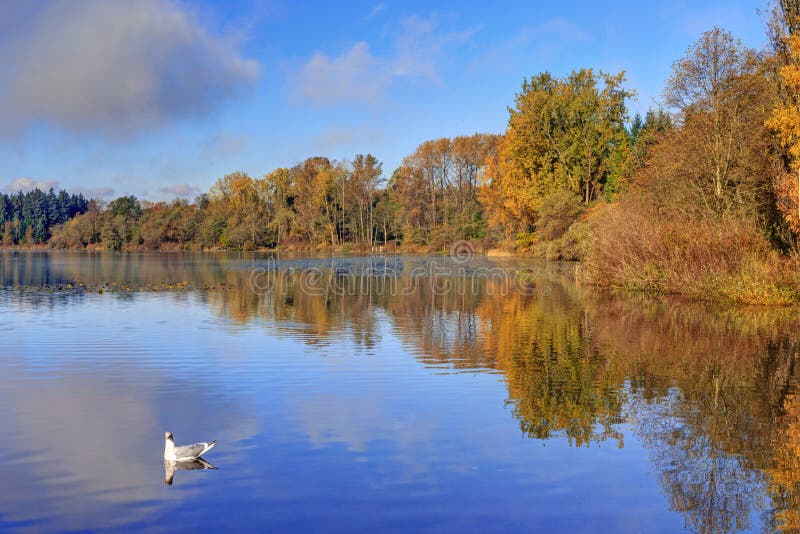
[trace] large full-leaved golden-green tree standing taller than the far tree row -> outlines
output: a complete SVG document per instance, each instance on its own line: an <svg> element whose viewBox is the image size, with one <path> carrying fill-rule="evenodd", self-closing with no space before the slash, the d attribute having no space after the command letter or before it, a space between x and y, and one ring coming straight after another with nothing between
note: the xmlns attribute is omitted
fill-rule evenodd
<svg viewBox="0 0 800 534"><path fill-rule="evenodd" d="M624 73L592 69L525 80L488 172L494 219L511 232L535 228L543 199L566 191L584 203L613 179L612 159L627 142ZM617 180L619 181L619 180ZM618 185L617 185L618 187Z"/></svg>

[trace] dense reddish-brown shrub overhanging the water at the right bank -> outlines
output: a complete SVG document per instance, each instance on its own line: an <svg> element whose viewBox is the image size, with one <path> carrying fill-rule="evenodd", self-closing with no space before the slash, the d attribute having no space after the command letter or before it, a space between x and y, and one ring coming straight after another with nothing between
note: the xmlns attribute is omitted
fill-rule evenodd
<svg viewBox="0 0 800 534"><path fill-rule="evenodd" d="M587 280L598 285L741 304L797 302L792 269L756 225L656 207L640 195L605 206L589 225Z"/></svg>

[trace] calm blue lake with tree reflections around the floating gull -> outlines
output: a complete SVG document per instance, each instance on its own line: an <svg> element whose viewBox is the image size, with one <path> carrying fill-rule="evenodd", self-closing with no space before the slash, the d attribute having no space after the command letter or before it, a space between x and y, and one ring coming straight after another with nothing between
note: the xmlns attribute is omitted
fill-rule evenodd
<svg viewBox="0 0 800 534"><path fill-rule="evenodd" d="M0 530L800 527L798 311L575 272L0 252Z"/></svg>

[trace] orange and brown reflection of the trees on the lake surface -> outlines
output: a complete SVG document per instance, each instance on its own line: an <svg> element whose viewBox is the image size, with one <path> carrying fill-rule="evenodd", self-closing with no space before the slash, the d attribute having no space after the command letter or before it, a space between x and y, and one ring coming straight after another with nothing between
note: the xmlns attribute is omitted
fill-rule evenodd
<svg viewBox="0 0 800 534"><path fill-rule="evenodd" d="M375 260L366 267L356 259L297 260L281 264L270 290L259 292L251 272L264 261L256 257L98 257L88 270L64 258L32 268L39 261L0 255L5 286L32 288L22 292L30 306L57 305L54 284L91 279L114 288L104 298L137 298L131 286L186 283L228 323L279 329L308 343L346 337L369 350L389 328L424 365L501 373L529 438L624 447L633 432L687 528L754 528L756 514L771 530L800 529L796 310L615 295L574 283L571 265L541 266L528 291L510 290L520 287L514 264L502 264L505 280L455 271L442 292L436 277L407 280L424 259L381 258L380 268ZM323 275L303 279L309 265ZM335 290L332 280L344 277L353 289ZM414 291L387 290L392 283ZM64 293L88 298L88 291Z"/></svg>

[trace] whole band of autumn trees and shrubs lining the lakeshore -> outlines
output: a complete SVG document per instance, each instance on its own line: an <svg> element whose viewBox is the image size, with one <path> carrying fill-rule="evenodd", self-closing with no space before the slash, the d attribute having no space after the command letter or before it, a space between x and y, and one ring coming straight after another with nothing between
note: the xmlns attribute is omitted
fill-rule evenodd
<svg viewBox="0 0 800 534"><path fill-rule="evenodd" d="M5 196L2 242L391 252L469 240L582 260L599 285L797 302L800 5L782 0L765 18L764 50L703 33L644 116L629 115L624 73L543 72L522 84L502 135L426 141L391 172L358 154L234 172L191 202Z"/></svg>

